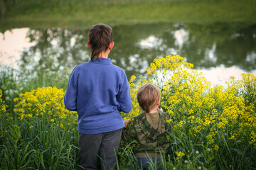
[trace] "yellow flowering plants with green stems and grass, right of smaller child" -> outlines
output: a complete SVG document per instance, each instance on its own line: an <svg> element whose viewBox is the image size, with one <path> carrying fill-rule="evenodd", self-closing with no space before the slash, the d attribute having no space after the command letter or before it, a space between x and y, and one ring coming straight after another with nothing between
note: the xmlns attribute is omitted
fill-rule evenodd
<svg viewBox="0 0 256 170"><path fill-rule="evenodd" d="M146 78L131 78L134 108L124 119L142 112L136 98L139 86L154 83L161 91L161 108L171 115L166 169L255 169L255 75L232 77L223 89L211 87L191 67L180 56L155 59Z"/></svg>

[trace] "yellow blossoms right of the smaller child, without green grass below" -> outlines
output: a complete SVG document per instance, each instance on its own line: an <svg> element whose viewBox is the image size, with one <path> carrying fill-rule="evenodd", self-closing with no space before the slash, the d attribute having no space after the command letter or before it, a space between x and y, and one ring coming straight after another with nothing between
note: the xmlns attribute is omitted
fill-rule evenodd
<svg viewBox="0 0 256 170"><path fill-rule="evenodd" d="M193 135L204 136L201 141L208 142L215 150L215 142L228 132L230 140L256 142L256 77L242 74L242 80L232 78L228 88L210 87L203 74L193 69L193 64L184 62L180 56L166 56L155 59L147 68L147 79L132 77L129 81L132 103L131 113L124 119L140 113L136 93L145 82L153 82L161 91L161 107L175 121L173 126Z"/></svg>

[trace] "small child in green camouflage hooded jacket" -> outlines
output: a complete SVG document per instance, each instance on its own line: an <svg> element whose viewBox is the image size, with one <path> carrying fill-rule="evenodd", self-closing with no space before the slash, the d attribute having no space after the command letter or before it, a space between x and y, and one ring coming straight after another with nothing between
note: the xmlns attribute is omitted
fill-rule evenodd
<svg viewBox="0 0 256 170"><path fill-rule="evenodd" d="M159 109L160 91L153 84L147 83L139 88L137 101L144 112L129 120L127 128L123 130L122 140L137 141L133 152L139 167L146 169L149 162L155 159L160 162L164 150L169 146L165 133L169 130L166 123L169 115Z"/></svg>

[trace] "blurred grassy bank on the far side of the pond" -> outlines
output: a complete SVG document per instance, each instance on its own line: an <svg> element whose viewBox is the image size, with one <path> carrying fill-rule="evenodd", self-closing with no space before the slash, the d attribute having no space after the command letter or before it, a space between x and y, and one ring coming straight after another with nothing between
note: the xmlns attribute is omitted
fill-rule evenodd
<svg viewBox="0 0 256 170"><path fill-rule="evenodd" d="M1 0L1 32L11 28L90 28L134 23L255 23L255 0Z"/></svg>

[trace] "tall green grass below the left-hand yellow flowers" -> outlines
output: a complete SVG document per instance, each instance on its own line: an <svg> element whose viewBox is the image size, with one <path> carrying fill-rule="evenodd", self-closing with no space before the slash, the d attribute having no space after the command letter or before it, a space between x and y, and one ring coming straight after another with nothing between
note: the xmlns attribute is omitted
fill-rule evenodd
<svg viewBox="0 0 256 170"><path fill-rule="evenodd" d="M78 132L47 124L9 120L1 115L0 169L77 169Z"/></svg>

